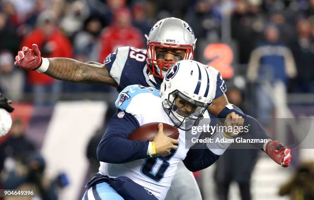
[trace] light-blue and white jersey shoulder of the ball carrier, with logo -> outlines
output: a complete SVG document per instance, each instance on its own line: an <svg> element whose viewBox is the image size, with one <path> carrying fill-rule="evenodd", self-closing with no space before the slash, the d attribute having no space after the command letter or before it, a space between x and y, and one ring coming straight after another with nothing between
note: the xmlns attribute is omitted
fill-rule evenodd
<svg viewBox="0 0 314 200"><path fill-rule="evenodd" d="M148 93L160 97L159 91L154 87L144 87L142 85L129 85L118 95L115 101L115 107L132 115L140 109L141 94Z"/></svg>

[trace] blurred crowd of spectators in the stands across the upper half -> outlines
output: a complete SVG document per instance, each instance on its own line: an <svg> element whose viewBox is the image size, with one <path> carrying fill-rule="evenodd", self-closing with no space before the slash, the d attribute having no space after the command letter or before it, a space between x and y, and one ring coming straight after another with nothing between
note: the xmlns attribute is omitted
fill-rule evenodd
<svg viewBox="0 0 314 200"><path fill-rule="evenodd" d="M0 2L0 91L13 101L23 101L24 93L41 102L45 93L57 98L62 92L111 91L15 68L14 56L23 46L36 43L43 57L102 63L116 47L146 48L144 34L170 16L186 20L201 43L232 43L235 74L255 82L279 80L279 88L293 93L314 91L313 0ZM204 60L201 43L195 52L199 61Z"/></svg>

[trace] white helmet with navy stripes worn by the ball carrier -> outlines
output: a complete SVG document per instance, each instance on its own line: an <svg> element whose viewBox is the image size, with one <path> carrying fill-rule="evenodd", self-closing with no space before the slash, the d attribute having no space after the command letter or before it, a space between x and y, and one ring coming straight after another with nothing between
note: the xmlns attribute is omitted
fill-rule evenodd
<svg viewBox="0 0 314 200"><path fill-rule="evenodd" d="M206 65L194 60L176 62L167 71L160 94L163 108L176 127L190 130L203 119L205 110L212 103L209 73ZM195 107L191 114L178 108L175 102L178 97Z"/></svg>

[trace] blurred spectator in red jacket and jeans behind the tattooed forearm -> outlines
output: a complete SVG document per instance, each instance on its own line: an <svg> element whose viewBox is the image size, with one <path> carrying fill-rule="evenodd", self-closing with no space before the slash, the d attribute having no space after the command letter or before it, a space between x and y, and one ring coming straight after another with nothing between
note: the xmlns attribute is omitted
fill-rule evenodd
<svg viewBox="0 0 314 200"><path fill-rule="evenodd" d="M72 46L69 39L57 29L57 18L50 12L44 11L37 18L37 28L22 42L22 47L31 47L35 43L43 57L72 58ZM28 82L31 84L35 103L42 105L45 93L52 94L52 101L57 100L61 92L61 82L34 71L28 72Z"/></svg>

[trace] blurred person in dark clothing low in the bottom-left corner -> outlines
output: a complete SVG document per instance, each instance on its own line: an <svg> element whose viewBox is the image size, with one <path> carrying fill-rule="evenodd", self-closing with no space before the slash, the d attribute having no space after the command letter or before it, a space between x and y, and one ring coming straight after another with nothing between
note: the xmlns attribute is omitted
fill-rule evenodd
<svg viewBox="0 0 314 200"><path fill-rule="evenodd" d="M34 143L25 137L25 127L19 119L13 122L8 139L1 144L0 155L3 155L0 157L0 177L5 189L34 190L37 197L52 200L57 199L57 186L67 185L61 180L64 174L54 181L46 179L45 160L36 152Z"/></svg>

